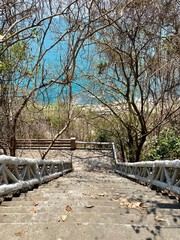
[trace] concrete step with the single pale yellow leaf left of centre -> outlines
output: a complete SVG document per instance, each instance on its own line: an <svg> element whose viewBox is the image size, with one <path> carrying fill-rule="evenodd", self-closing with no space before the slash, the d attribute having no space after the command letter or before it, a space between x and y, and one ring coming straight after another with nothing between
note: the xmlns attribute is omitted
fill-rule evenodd
<svg viewBox="0 0 180 240"><path fill-rule="evenodd" d="M179 216L162 216L158 217L157 220L153 215L141 215L141 214L118 214L118 213L95 213L86 212L78 213L71 212L66 213L62 210L57 210L56 213L53 212L34 212L29 213L6 213L0 214L0 223L30 223L30 222L49 222L50 224L56 222L62 222L62 215L66 215L66 222L68 223L102 223L102 224L141 224L142 222L147 222L149 225L157 226L171 226L180 227Z"/></svg>

